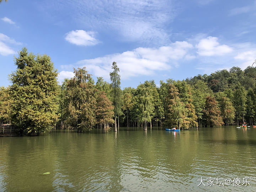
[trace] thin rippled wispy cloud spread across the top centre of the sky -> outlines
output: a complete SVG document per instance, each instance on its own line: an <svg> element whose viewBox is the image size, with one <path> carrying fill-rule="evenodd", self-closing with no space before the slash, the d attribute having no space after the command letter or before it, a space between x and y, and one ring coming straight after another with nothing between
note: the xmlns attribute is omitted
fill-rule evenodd
<svg viewBox="0 0 256 192"><path fill-rule="evenodd" d="M146 46L170 43L167 25L177 11L172 0L78 0L75 4L72 0L65 3L56 0L54 3L44 1L44 4L51 16L68 10L79 26L111 33L118 41L140 42Z"/></svg>

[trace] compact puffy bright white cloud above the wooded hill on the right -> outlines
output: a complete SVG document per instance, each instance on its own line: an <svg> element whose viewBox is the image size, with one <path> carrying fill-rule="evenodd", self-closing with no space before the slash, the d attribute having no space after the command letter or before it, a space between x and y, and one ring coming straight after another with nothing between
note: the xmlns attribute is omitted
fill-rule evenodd
<svg viewBox="0 0 256 192"><path fill-rule="evenodd" d="M214 55L224 55L230 53L233 49L227 45L220 45L217 37L207 37L201 39L196 45L197 53L200 56L214 56Z"/></svg>

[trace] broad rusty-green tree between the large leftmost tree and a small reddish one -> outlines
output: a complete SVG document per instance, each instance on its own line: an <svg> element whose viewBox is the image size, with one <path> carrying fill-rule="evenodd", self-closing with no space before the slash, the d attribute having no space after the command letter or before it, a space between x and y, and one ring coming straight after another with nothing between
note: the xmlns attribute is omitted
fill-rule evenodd
<svg viewBox="0 0 256 192"><path fill-rule="evenodd" d="M85 69L74 69L75 76L67 84L66 123L78 132L90 130L96 123L96 88Z"/></svg>

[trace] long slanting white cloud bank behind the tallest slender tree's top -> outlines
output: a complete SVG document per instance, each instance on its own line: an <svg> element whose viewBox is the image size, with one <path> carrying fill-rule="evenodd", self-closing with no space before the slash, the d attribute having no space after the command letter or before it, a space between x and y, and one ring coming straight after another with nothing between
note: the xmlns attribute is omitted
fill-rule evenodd
<svg viewBox="0 0 256 192"><path fill-rule="evenodd" d="M79 66L86 66L89 73L108 79L112 71L112 62L117 62L122 79L139 75L153 75L155 71L170 70L178 61L186 57L193 46L185 41L175 42L159 48L139 47L132 51L106 55L94 59L79 61Z"/></svg>

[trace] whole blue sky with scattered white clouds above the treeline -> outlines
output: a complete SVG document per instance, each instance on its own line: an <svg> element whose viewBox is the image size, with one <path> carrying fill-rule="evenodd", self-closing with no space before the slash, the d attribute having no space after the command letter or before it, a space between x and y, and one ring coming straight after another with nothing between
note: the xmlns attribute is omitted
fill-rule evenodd
<svg viewBox="0 0 256 192"><path fill-rule="evenodd" d="M48 54L59 81L86 66L121 86L239 66L256 59L255 0L9 0L0 4L0 86L10 85L14 55Z"/></svg>

